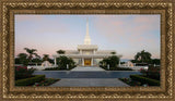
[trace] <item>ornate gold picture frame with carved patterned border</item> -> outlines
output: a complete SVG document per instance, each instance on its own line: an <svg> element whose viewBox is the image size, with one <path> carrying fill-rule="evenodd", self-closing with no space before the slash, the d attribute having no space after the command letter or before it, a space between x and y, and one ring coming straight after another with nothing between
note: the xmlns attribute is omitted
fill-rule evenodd
<svg viewBox="0 0 175 101"><path fill-rule="evenodd" d="M149 2L145 2L149 1ZM1 0L0 100L174 100L174 1ZM14 14L160 14L160 87L15 87Z"/></svg>

